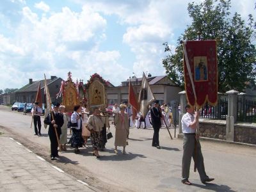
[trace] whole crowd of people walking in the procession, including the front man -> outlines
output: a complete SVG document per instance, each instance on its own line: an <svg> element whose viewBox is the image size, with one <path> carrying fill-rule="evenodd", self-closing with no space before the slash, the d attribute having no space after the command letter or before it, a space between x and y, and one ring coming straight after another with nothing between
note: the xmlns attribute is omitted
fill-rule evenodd
<svg viewBox="0 0 256 192"><path fill-rule="evenodd" d="M40 115L42 109L38 106L38 102L35 103L32 109L32 115L35 125L35 135L40 135L41 122ZM126 154L125 147L128 145L129 128L134 122L132 121L131 106L124 102L118 106L115 104L113 107L113 124L115 125L115 150L118 154L117 147L122 147L122 153ZM195 112L193 106L186 106L186 114L181 119L182 132L184 133L184 151L182 157L182 180L181 182L186 185L191 185L189 182L189 168L191 158L195 160L195 165L200 175L202 182L211 182L214 180L206 175L204 169L204 157L202 156L201 145L196 138L196 124L198 124L198 112ZM39 118L38 118L39 117ZM154 129L154 135L152 138L152 147L161 148L159 145L159 130L164 124L172 123L172 113L168 105L159 105L159 101L155 101L147 116L143 117L139 114L136 117L136 121L139 122L138 129L143 122L144 128L147 127L147 123L150 122ZM137 122L137 124L138 124ZM167 123L166 123L167 122ZM51 159L54 160L59 157L59 151L67 150L67 143L74 148L74 152L79 154L79 148L88 147L88 138L92 143L93 156L97 159L100 158L99 151L104 150L106 147L109 130L109 113L105 108L93 108L93 113L90 114L86 105L74 106L74 111L71 115L65 113L65 106L60 106L58 103L53 103L52 112L44 119L44 124L49 125L49 139L51 141ZM135 122L136 124L136 122ZM72 136L70 140L67 140L68 127L72 130ZM111 137L109 137L111 138ZM196 152L195 152L196 148Z"/></svg>

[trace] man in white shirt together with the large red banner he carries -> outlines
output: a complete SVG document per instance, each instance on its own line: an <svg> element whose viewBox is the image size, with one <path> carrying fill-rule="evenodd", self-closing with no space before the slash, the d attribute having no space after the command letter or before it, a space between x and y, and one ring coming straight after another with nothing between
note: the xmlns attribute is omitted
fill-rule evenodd
<svg viewBox="0 0 256 192"><path fill-rule="evenodd" d="M189 182L189 168L191 157L195 161L196 169L202 182L211 182L204 170L204 157L202 156L199 141L200 129L196 109L202 108L207 102L215 106L218 100L218 66L216 58L215 40L184 41L184 80L186 96L189 105L187 113L182 117L182 132L184 133L184 152L182 157L182 183ZM195 114L195 116L194 116Z"/></svg>

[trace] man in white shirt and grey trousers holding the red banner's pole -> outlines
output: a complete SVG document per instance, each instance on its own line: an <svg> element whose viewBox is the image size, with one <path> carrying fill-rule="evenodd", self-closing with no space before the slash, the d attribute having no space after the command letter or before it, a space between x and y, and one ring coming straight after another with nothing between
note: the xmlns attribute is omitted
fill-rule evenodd
<svg viewBox="0 0 256 192"><path fill-rule="evenodd" d="M186 185L191 185L189 182L189 168L191 163L191 157L196 161L196 169L200 175L200 179L203 183L211 182L213 178L209 178L204 169L204 157L201 151L201 145L199 140L196 140L196 124L198 123L199 113L195 112L195 107L186 105L187 113L182 116L181 125L182 132L184 133L183 143L183 157L182 157L182 180L181 182ZM196 156L195 156L196 147Z"/></svg>

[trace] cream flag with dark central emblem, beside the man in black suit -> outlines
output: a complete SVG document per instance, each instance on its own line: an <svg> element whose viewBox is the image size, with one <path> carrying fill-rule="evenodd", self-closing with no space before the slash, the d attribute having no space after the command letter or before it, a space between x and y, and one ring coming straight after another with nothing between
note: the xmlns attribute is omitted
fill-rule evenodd
<svg viewBox="0 0 256 192"><path fill-rule="evenodd" d="M143 72L142 82L141 82L141 90L139 96L140 103L140 112L141 115L145 118L148 113L148 106L154 101L156 98L148 84L148 80Z"/></svg>

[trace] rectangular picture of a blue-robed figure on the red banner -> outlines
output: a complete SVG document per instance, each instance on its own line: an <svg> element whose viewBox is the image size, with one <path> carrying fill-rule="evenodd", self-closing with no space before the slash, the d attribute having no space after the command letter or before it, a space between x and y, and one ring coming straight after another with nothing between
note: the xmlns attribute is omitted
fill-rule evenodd
<svg viewBox="0 0 256 192"><path fill-rule="evenodd" d="M194 68L195 68L195 81L208 80L207 57L205 56L194 57Z"/></svg>

